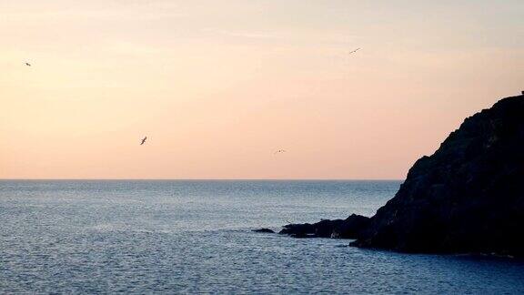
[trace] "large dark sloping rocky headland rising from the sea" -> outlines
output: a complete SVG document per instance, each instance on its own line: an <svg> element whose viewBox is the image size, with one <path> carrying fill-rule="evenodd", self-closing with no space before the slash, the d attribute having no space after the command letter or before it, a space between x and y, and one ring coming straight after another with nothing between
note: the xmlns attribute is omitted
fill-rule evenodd
<svg viewBox="0 0 524 295"><path fill-rule="evenodd" d="M467 118L418 159L353 246L524 256L524 96Z"/></svg>

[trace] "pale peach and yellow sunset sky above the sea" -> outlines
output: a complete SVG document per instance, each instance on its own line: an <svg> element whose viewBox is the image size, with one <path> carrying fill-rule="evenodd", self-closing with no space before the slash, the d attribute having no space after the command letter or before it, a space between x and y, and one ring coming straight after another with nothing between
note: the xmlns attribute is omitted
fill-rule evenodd
<svg viewBox="0 0 524 295"><path fill-rule="evenodd" d="M522 15L522 0L0 0L0 178L403 179L524 90Z"/></svg>

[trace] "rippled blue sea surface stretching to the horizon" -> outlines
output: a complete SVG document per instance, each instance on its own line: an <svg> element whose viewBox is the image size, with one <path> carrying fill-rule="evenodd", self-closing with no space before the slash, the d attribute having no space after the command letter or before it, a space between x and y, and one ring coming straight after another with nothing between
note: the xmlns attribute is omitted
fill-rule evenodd
<svg viewBox="0 0 524 295"><path fill-rule="evenodd" d="M398 181L0 181L0 293L523 293L524 263L251 229L372 215Z"/></svg>

